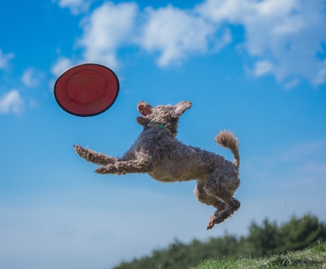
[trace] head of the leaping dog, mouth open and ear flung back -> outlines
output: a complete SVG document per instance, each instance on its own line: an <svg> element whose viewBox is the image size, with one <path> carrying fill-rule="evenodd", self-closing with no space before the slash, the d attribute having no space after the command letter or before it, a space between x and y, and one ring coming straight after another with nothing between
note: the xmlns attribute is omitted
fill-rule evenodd
<svg viewBox="0 0 326 269"><path fill-rule="evenodd" d="M179 118L188 108L191 108L189 101L182 101L176 105L157 105L155 107L140 101L137 110L141 116L137 117L137 122L144 127L154 124L162 125L176 135Z"/></svg>

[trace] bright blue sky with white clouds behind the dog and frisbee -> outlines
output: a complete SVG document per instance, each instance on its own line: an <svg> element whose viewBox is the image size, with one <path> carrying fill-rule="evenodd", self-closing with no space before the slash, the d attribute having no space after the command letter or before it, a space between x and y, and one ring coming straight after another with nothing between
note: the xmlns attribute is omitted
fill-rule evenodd
<svg viewBox="0 0 326 269"><path fill-rule="evenodd" d="M184 242L245 234L252 221L326 221L326 11L316 0L5 1L0 9L0 267L111 268ZM62 71L104 64L116 103L79 118L55 103ZM223 154L240 139L242 203L206 231L196 182L101 176L73 144L121 156L136 105L189 100L178 139Z"/></svg>

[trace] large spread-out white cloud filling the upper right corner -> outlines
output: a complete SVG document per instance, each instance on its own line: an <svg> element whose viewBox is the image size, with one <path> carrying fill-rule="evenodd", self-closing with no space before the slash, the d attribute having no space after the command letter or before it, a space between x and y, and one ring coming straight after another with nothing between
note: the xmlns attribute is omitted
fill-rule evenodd
<svg viewBox="0 0 326 269"><path fill-rule="evenodd" d="M316 57L326 42L325 1L206 0L196 10L213 23L244 27L248 55L274 66L260 75L272 72L278 81L296 76L312 84L325 83L326 62ZM269 67L266 63L258 62L254 69Z"/></svg>

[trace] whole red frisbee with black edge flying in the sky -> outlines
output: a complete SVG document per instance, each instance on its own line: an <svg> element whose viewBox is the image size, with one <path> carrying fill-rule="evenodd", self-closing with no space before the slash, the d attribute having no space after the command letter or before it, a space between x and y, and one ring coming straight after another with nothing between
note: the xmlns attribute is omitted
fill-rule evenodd
<svg viewBox="0 0 326 269"><path fill-rule="evenodd" d="M118 77L100 64L79 64L64 71L55 82L57 103L67 113L81 117L103 113L118 93Z"/></svg>

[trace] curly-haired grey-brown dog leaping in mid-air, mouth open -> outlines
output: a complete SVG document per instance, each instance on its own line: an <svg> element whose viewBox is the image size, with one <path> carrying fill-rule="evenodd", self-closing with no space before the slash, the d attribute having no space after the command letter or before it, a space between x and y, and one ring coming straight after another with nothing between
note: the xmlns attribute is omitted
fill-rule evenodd
<svg viewBox="0 0 326 269"><path fill-rule="evenodd" d="M222 131L215 137L220 146L232 151L232 163L223 156L179 142L175 138L179 118L190 107L189 101L156 107L140 101L137 109L142 116L137 122L144 130L122 158L99 154L79 145L74 147L86 161L101 165L96 173L147 173L162 182L198 180L194 190L196 198L217 209L207 225L207 229L211 229L240 207L240 202L233 198L240 185L239 144L231 132Z"/></svg>

